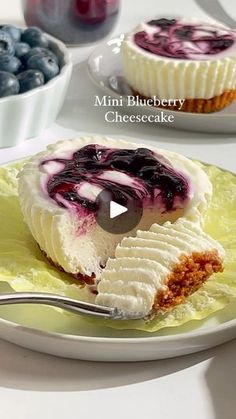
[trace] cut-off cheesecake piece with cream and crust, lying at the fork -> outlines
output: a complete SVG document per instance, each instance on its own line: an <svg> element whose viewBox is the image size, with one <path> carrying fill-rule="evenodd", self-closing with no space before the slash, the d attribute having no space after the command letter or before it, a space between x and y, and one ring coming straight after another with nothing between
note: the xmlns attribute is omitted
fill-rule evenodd
<svg viewBox="0 0 236 419"><path fill-rule="evenodd" d="M168 311L223 271L224 249L184 218L124 238L98 284L96 303L141 317Z"/></svg>

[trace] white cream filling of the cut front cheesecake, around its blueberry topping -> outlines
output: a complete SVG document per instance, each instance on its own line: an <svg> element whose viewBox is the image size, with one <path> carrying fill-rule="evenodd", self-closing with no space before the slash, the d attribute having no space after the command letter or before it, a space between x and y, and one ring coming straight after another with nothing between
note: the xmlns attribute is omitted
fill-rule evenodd
<svg viewBox="0 0 236 419"><path fill-rule="evenodd" d="M73 274L91 275L95 272L99 276L100 264L104 265L108 257L114 255L115 247L123 236L106 233L99 226L91 227L87 234L78 235L78 229L84 219L80 219L68 209L59 207L48 196L46 190L48 173L42 169L39 170L41 161L49 157L68 158L68 155L72 155L74 151L92 143L117 148L145 147L142 144L101 136L59 141L48 146L46 151L34 156L24 166L19 174L19 199L24 220L33 237L55 264ZM212 193L207 175L195 163L177 153L155 149L151 146L148 148L164 155L176 170L180 170L188 177L191 183L191 199L184 214L189 219L199 221L209 204ZM164 219L163 222L168 219L170 218ZM161 222L160 214L152 214L148 226L147 221L144 227L140 226L140 229L148 229L153 222ZM136 230L133 235L135 232Z"/></svg>

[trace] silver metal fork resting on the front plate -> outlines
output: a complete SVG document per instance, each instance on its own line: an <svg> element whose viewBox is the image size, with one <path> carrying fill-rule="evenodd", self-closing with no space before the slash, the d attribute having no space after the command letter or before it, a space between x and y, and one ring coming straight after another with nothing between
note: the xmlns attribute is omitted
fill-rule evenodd
<svg viewBox="0 0 236 419"><path fill-rule="evenodd" d="M41 292L16 292L0 295L0 306L10 304L44 304L59 307L76 314L97 316L112 320L141 319L141 313L124 312L116 307L104 307L98 304L85 303L57 294Z"/></svg>

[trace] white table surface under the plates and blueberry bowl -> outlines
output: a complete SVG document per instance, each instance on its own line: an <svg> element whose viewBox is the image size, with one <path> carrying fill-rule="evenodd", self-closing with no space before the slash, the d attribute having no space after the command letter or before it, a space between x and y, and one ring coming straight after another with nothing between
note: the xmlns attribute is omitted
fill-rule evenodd
<svg viewBox="0 0 236 419"><path fill-rule="evenodd" d="M210 6L214 1L198 0L198 3ZM235 0L221 0L221 4L236 19ZM161 12L204 17L194 0L123 0L113 32L128 30L140 20ZM20 0L0 2L0 21L23 23ZM0 163L34 153L56 138L85 131L138 136L236 170L235 136L184 133L146 124L106 124L103 109L93 107L94 95L99 92L86 74L85 60L93 48L72 49L73 79L57 122L38 139L14 149L1 149ZM233 419L235 352L236 341L232 341L178 359L101 364L57 359L0 340L0 417Z"/></svg>

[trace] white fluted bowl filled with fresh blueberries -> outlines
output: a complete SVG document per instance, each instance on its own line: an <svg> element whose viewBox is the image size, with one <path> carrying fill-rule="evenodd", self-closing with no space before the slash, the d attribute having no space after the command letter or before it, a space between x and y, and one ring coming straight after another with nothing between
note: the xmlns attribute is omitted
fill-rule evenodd
<svg viewBox="0 0 236 419"><path fill-rule="evenodd" d="M0 27L0 148L36 137L55 121L71 71L61 41L39 28Z"/></svg>

